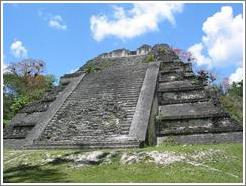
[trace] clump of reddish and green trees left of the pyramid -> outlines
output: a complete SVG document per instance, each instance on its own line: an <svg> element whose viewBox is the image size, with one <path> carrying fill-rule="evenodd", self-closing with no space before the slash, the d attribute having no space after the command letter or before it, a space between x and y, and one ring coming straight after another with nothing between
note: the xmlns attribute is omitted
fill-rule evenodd
<svg viewBox="0 0 246 186"><path fill-rule="evenodd" d="M12 63L3 74L3 114L10 120L26 104L40 99L53 87L55 78L44 75L45 63L42 60L24 59Z"/></svg>

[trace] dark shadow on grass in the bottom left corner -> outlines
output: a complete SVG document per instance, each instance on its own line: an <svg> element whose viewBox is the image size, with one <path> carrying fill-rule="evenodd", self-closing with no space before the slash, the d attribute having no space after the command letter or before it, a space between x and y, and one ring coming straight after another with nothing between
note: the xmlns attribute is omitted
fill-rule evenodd
<svg viewBox="0 0 246 186"><path fill-rule="evenodd" d="M55 183L71 182L66 174L47 166L19 165L3 172L4 183Z"/></svg>

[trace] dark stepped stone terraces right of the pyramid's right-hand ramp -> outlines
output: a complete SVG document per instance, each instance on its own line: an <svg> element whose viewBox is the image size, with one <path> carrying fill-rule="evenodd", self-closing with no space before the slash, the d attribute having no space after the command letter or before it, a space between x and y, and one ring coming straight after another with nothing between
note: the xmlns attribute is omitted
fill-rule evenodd
<svg viewBox="0 0 246 186"><path fill-rule="evenodd" d="M216 105L191 64L162 62L158 81L157 143L242 140L242 126Z"/></svg>

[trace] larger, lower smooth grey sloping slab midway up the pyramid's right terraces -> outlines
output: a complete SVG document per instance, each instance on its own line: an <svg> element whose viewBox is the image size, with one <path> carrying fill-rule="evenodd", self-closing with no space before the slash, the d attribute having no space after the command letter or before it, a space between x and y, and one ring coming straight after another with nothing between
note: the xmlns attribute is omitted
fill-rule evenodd
<svg viewBox="0 0 246 186"><path fill-rule="evenodd" d="M224 115L220 108L212 102L181 103L159 106L159 118L167 119L190 119L206 118Z"/></svg>

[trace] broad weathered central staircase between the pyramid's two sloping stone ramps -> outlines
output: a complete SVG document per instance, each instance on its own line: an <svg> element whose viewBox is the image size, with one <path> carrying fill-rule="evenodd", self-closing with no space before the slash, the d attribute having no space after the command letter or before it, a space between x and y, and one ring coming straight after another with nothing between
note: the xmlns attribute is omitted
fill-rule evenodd
<svg viewBox="0 0 246 186"><path fill-rule="evenodd" d="M148 64L87 74L34 142L36 147L138 147L128 136Z"/></svg>

